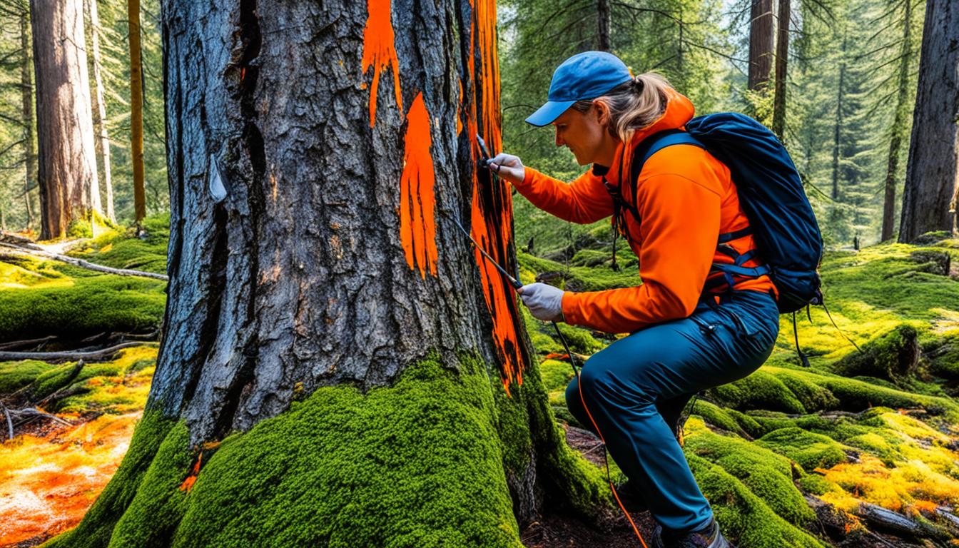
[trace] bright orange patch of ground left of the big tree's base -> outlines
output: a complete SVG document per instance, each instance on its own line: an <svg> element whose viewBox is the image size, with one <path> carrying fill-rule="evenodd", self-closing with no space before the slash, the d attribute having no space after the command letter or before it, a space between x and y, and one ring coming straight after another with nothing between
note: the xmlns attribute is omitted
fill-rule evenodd
<svg viewBox="0 0 959 548"><path fill-rule="evenodd" d="M23 435L0 445L0 546L80 523L127 453L141 415L103 415L47 438Z"/></svg>

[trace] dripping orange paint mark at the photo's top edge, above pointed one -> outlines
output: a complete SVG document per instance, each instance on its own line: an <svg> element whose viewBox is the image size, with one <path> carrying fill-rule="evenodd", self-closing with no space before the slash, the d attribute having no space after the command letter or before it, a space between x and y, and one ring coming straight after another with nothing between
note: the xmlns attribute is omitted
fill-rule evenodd
<svg viewBox="0 0 959 548"><path fill-rule="evenodd" d="M396 58L393 24L390 20L389 0L367 0L366 28L363 29L363 74L373 67L373 86L369 92L369 127L376 124L376 94L380 87L380 72L388 65L393 67L393 87L396 91L396 106L403 110L400 92L400 63Z"/></svg>

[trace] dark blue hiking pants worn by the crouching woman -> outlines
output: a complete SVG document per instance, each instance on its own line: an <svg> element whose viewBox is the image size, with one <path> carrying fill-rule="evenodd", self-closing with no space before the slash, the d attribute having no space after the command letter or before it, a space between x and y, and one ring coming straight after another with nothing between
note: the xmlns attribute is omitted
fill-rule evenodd
<svg viewBox="0 0 959 548"><path fill-rule="evenodd" d="M590 415L596 420L613 460L667 532L694 531L713 517L674 437L676 418L692 394L759 369L778 334L772 297L732 292L596 352L567 387L573 417L590 429Z"/></svg>

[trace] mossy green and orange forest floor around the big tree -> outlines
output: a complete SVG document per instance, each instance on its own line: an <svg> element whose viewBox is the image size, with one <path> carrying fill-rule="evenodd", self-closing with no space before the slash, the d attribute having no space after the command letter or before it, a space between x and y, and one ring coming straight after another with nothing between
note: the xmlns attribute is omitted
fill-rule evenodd
<svg viewBox="0 0 959 548"><path fill-rule="evenodd" d="M66 250L90 262L166 270L164 217L147 238L124 230ZM635 283L635 258L611 268L602 234L575 247L520 253L521 277L572 290ZM541 244L542 245L542 244ZM684 451L724 533L745 548L959 546L959 241L833 251L821 268L825 311L791 318L765 366L700 394ZM49 304L53 302L56 306ZM0 445L0 548L33 546L75 525L116 470L142 414L155 364L164 283L45 259L0 256L0 345L7 350L142 343L106 361L0 362L0 401L16 416ZM546 325L525 313L550 405L567 441L602 467L597 440L566 410L572 372ZM610 339L563 326L585 357ZM45 337L41 342L29 341ZM857 351L849 337L862 349ZM148 339L143 341L143 339ZM2 348L0 348L2 349ZM4 417L0 417L3 419ZM29 419L29 420L28 420ZM20 423L20 421L23 421ZM6 420L0 420L6 433ZM610 460L614 483L623 477ZM546 514L526 524L528 548L642 546L618 509L587 523ZM647 543L652 520L633 514Z"/></svg>

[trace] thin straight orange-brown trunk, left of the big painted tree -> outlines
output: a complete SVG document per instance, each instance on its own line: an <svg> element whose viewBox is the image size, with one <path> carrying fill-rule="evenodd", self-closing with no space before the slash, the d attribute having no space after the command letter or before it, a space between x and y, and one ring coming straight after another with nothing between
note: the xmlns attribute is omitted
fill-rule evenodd
<svg viewBox="0 0 959 548"><path fill-rule="evenodd" d="M129 156L133 167L133 216L138 229L147 216L143 174L143 67L140 64L140 0L127 0L129 22Z"/></svg>

